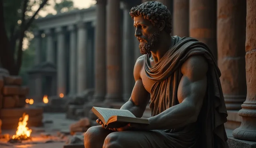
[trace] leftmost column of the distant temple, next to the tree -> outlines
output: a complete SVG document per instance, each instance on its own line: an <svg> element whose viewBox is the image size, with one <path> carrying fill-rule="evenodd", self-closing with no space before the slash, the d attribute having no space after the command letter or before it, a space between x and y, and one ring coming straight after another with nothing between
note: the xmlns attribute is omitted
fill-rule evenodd
<svg viewBox="0 0 256 148"><path fill-rule="evenodd" d="M42 49L42 37L40 31L34 31L34 40L35 40L35 57L34 57L34 64L38 65L42 61L41 57L41 49Z"/></svg>

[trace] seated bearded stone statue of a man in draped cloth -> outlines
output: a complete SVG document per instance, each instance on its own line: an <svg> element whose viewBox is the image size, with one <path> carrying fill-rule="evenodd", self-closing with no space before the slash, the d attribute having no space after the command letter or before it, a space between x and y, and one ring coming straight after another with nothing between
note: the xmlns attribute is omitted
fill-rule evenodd
<svg viewBox="0 0 256 148"><path fill-rule="evenodd" d="M227 148L221 73L211 50L194 38L170 36L171 14L160 2L142 3L130 15L144 55L136 61L136 83L121 109L142 117L150 93L150 125L93 126L85 147Z"/></svg>

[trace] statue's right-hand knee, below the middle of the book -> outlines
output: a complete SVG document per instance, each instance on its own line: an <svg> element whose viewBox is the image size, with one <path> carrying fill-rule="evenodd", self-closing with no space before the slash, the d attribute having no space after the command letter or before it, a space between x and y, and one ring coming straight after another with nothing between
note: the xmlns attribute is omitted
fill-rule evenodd
<svg viewBox="0 0 256 148"><path fill-rule="evenodd" d="M113 132L107 135L104 141L103 148L120 148L120 136L118 132Z"/></svg>

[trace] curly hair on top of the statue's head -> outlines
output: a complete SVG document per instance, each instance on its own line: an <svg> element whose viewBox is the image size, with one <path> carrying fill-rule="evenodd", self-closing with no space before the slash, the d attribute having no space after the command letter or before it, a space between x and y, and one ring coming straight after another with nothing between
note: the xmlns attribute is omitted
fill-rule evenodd
<svg viewBox="0 0 256 148"><path fill-rule="evenodd" d="M159 23L159 20L165 21L165 32L171 33L171 13L165 5L157 1L147 1L133 7L130 10L130 16L134 19L136 16L143 16L149 20L154 26Z"/></svg>

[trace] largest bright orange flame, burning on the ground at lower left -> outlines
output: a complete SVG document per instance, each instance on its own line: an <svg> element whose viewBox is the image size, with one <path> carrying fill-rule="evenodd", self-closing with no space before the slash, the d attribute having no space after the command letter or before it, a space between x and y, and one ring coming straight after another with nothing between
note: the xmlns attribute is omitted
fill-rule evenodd
<svg viewBox="0 0 256 148"><path fill-rule="evenodd" d="M27 126L27 121L29 120L29 115L23 113L23 117L19 118L18 128L16 134L13 135L12 139L26 140L30 137L32 132Z"/></svg>

